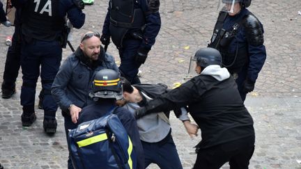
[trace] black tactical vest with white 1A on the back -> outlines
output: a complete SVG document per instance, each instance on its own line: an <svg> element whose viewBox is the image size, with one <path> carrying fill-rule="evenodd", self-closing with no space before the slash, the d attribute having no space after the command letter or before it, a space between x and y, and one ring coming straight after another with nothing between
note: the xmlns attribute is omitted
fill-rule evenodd
<svg viewBox="0 0 301 169"><path fill-rule="evenodd" d="M63 30L63 16L59 16L59 0L30 0L25 9L27 15L22 24L22 33L37 40L58 39Z"/></svg>

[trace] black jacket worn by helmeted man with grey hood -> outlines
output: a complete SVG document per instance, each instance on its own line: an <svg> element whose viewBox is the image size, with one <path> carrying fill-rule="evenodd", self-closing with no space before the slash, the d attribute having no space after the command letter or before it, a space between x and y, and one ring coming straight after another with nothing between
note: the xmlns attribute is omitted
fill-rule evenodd
<svg viewBox="0 0 301 169"><path fill-rule="evenodd" d="M253 120L230 77L217 81L199 75L167 94L148 102L146 111L169 111L187 106L201 129L200 148L254 136Z"/></svg>

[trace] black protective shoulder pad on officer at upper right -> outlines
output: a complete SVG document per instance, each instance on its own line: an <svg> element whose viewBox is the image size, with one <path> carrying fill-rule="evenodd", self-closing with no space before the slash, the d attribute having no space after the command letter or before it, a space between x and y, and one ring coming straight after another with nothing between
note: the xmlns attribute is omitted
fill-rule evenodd
<svg viewBox="0 0 301 169"><path fill-rule="evenodd" d="M254 15L246 15L242 20L242 25L245 27L246 38L250 45L263 45L263 28Z"/></svg>

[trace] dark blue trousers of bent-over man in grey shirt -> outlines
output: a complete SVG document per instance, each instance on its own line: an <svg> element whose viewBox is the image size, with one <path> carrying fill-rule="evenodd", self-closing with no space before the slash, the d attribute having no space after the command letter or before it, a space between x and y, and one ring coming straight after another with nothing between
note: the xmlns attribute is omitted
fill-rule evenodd
<svg viewBox="0 0 301 169"><path fill-rule="evenodd" d="M171 135L167 137L168 138L164 138L166 139L164 143L146 143L141 141L142 147L144 148L145 167L151 163L155 163L164 169L183 168L173 138Z"/></svg>

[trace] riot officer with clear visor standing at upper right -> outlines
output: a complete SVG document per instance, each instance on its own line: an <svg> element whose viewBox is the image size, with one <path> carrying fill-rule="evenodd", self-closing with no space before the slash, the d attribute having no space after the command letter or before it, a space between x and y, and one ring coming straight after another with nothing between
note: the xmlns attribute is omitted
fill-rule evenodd
<svg viewBox="0 0 301 169"><path fill-rule="evenodd" d="M222 54L223 67L236 79L243 101L254 90L266 58L263 25L247 7L252 0L220 0L219 17L208 47Z"/></svg>

